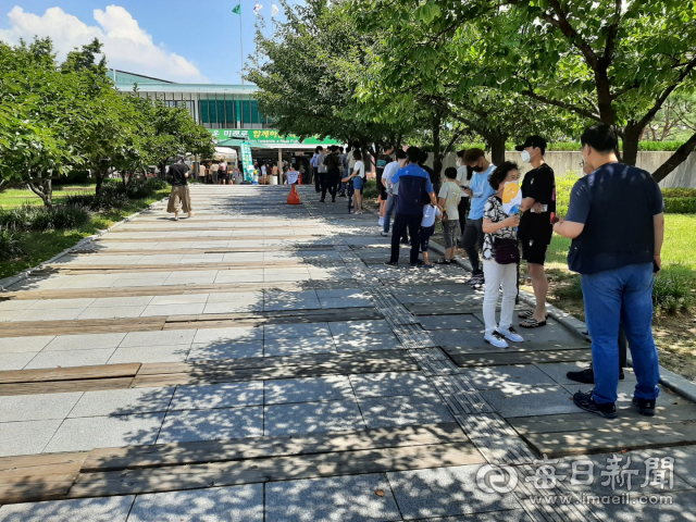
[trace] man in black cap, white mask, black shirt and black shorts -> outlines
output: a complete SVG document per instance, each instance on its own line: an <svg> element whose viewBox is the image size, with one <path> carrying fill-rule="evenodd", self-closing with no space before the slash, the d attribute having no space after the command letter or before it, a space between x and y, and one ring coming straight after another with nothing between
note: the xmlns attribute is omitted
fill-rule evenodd
<svg viewBox="0 0 696 522"><path fill-rule="evenodd" d="M554 229L551 216L556 214L556 177L554 169L544 161L546 140L540 136L530 136L523 145L515 147L522 152L522 161L530 163L532 170L522 179L522 204L524 212L520 220L518 236L522 244L522 259L526 261L536 307L533 311L520 313L524 319L523 328L535 328L546 324L546 295L548 281L544 272L546 251L551 243Z"/></svg>

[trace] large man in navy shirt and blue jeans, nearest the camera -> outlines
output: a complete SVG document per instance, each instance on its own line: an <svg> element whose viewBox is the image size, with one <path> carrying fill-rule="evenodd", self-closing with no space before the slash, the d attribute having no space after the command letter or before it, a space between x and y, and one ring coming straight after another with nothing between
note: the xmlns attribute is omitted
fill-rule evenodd
<svg viewBox="0 0 696 522"><path fill-rule="evenodd" d="M662 192L649 173L619 163L611 126L593 125L581 144L592 172L575 183L566 220L554 225L554 232L573 240L568 265L581 274L592 337L595 388L577 391L573 401L601 417L617 417L621 324L638 381L633 405L654 415L660 365L651 330L652 284L662 265Z"/></svg>

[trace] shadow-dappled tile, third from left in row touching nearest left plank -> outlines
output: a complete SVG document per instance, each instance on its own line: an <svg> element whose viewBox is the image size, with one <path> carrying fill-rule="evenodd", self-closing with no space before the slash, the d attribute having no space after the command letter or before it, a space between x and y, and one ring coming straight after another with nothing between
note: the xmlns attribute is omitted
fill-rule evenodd
<svg viewBox="0 0 696 522"><path fill-rule="evenodd" d="M260 437L263 410L259 407L170 411L158 444Z"/></svg>

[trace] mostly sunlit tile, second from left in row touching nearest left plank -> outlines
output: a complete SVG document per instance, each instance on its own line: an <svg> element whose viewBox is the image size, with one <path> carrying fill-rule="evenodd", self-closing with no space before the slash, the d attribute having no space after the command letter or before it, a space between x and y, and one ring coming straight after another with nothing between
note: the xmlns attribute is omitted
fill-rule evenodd
<svg viewBox="0 0 696 522"><path fill-rule="evenodd" d="M48 453L154 444L161 413L65 419L45 448Z"/></svg>

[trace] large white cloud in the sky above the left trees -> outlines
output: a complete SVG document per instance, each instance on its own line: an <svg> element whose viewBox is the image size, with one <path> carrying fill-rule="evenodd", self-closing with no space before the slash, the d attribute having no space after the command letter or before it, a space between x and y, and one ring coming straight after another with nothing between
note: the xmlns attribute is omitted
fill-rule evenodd
<svg viewBox="0 0 696 522"><path fill-rule="evenodd" d="M189 60L156 45L124 8L95 9L94 15L99 25L87 25L61 8L47 9L39 16L14 7L8 14L10 27L0 29L0 40L16 44L20 38L32 41L35 35L49 36L59 58L64 58L75 47L98 38L110 67L173 82L209 82Z"/></svg>

